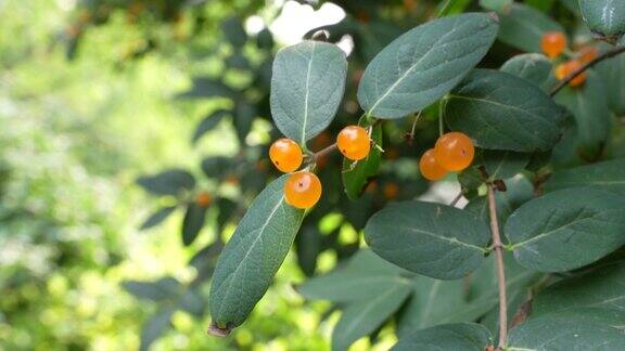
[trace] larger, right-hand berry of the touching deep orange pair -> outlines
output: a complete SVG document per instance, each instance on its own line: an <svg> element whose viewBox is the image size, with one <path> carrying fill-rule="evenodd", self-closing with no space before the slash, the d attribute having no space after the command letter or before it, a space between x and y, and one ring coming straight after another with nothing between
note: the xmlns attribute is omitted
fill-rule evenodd
<svg viewBox="0 0 625 351"><path fill-rule="evenodd" d="M460 132L443 134L434 145L434 157L448 171L461 171L469 167L475 156L473 142Z"/></svg>

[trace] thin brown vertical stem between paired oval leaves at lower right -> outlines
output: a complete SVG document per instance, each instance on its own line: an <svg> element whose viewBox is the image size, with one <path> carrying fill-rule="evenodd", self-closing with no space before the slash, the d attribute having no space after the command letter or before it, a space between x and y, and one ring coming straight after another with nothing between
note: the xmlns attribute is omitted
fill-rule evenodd
<svg viewBox="0 0 625 351"><path fill-rule="evenodd" d="M499 234L497 221L497 207L495 204L495 188L488 184L488 210L490 214L490 232L493 234L493 248L497 261L497 281L499 283L499 347L502 350L508 342L508 300L506 298L506 272L503 270L503 245Z"/></svg>

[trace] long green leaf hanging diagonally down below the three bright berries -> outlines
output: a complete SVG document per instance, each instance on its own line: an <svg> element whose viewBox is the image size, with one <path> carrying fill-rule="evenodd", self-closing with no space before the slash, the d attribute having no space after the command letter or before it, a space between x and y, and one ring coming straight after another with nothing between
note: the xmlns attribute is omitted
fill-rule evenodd
<svg viewBox="0 0 625 351"><path fill-rule="evenodd" d="M211 285L213 325L241 325L271 285L299 230L304 211L284 202L284 174L256 197L224 247Z"/></svg>

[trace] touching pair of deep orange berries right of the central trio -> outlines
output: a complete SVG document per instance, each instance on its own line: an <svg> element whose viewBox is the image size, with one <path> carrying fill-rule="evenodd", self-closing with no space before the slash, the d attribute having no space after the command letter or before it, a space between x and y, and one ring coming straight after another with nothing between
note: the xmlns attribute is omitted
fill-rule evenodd
<svg viewBox="0 0 625 351"><path fill-rule="evenodd" d="M421 174L431 181L437 181L448 172L458 172L471 165L475 147L469 136L460 132L441 135L434 148L426 151L419 160Z"/></svg>

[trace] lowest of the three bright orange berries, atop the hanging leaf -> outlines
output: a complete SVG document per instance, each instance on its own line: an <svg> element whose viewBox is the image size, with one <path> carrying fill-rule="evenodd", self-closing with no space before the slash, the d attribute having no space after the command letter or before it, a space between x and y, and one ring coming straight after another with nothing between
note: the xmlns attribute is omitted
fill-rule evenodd
<svg viewBox="0 0 625 351"><path fill-rule="evenodd" d="M286 204L307 209L319 200L321 197L321 182L319 178L311 172L293 173L284 184L284 198Z"/></svg>

